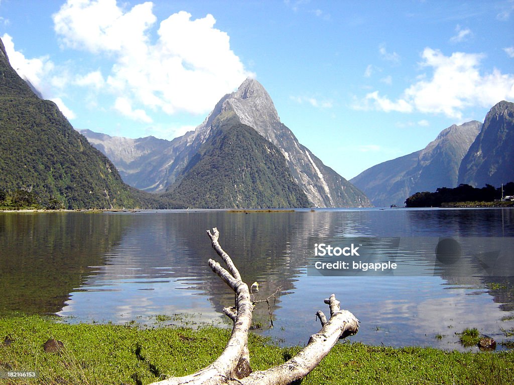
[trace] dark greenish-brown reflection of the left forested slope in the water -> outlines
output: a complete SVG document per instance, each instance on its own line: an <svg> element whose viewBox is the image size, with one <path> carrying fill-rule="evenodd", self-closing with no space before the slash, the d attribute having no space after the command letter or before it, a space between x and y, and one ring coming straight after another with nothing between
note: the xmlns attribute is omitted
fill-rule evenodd
<svg viewBox="0 0 514 385"><path fill-rule="evenodd" d="M124 218L0 214L0 315L56 313L122 237Z"/></svg>

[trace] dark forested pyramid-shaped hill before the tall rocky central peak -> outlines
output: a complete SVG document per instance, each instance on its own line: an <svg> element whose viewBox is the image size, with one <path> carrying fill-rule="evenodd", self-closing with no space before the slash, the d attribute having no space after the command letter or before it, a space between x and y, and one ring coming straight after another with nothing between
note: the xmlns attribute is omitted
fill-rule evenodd
<svg viewBox="0 0 514 385"><path fill-rule="evenodd" d="M233 113L218 115L213 127L164 197L202 208L308 207L276 146Z"/></svg>

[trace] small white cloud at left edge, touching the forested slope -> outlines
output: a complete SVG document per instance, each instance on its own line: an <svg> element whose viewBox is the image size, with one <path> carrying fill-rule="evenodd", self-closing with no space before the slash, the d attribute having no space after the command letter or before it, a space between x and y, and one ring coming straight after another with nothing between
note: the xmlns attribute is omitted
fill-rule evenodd
<svg viewBox="0 0 514 385"><path fill-rule="evenodd" d="M7 56L12 68L20 75L21 78L28 80L43 97L48 97L47 90L44 85L44 79L53 70L54 65L48 59L48 56L37 57L35 59L27 59L22 52L14 49L12 37L5 33L2 36Z"/></svg>

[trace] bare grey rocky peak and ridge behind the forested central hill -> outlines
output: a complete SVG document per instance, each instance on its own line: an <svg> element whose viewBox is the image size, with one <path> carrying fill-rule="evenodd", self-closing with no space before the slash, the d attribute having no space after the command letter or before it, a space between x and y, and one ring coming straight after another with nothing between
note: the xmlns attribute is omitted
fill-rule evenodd
<svg viewBox="0 0 514 385"><path fill-rule="evenodd" d="M280 122L269 94L253 79L247 79L237 91L226 94L219 100L205 121L194 131L171 142L162 142L163 149L158 154L152 154L153 150L146 152L141 149L141 143L147 138L134 140L137 143L125 140L128 148L120 150L119 144L123 139L104 136L100 140L91 132L83 133L122 170L127 183L154 192L166 188L167 194L171 194L185 177L183 170L218 128L214 124L216 119L227 114L234 115L239 123L252 127L280 150L293 180L301 187L312 205L371 205L362 191L325 166L308 148L298 142L291 130ZM153 143L153 140L148 142ZM118 147L117 154L114 153L113 147ZM143 176L146 177L145 180Z"/></svg>

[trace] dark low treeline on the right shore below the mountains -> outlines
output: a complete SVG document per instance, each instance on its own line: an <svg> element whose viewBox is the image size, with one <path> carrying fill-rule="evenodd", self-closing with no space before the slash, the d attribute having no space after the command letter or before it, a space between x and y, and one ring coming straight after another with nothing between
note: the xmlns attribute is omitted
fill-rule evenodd
<svg viewBox="0 0 514 385"><path fill-rule="evenodd" d="M503 186L503 196L514 195L514 182ZM416 192L405 201L407 207L441 207L452 202L494 202L502 198L502 188L486 184L478 188L460 184L454 188L440 187L435 192Z"/></svg>

